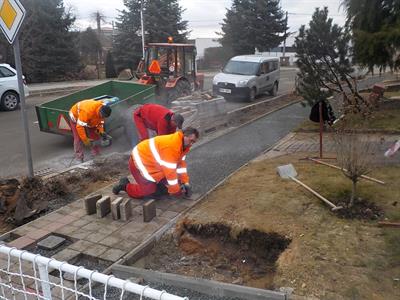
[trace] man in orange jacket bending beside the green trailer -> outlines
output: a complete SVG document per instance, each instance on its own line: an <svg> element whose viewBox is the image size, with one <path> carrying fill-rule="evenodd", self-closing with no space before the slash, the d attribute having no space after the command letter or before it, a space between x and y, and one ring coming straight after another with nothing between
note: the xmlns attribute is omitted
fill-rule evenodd
<svg viewBox="0 0 400 300"><path fill-rule="evenodd" d="M83 162L84 151L82 143L91 147L92 154L98 155L100 147L93 142L107 138L104 131L104 119L111 115L111 107L102 101L82 100L74 104L70 111L70 125L74 136L75 157Z"/></svg>

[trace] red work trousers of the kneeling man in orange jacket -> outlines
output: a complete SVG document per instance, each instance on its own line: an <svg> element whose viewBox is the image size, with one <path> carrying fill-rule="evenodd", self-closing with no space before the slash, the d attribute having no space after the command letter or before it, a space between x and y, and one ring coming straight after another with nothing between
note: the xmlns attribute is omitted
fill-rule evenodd
<svg viewBox="0 0 400 300"><path fill-rule="evenodd" d="M156 192L157 183L143 178L142 174L140 174L140 171L133 162L132 157L129 158L129 170L136 181L136 183L128 183L126 186L126 192L128 193L129 197L140 199Z"/></svg>

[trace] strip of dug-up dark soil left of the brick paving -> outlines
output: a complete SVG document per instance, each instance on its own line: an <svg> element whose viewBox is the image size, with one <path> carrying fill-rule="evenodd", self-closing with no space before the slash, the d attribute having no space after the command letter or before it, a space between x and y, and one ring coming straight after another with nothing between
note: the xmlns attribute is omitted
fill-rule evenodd
<svg viewBox="0 0 400 300"><path fill-rule="evenodd" d="M32 221L109 185L127 173L128 158L127 155L113 154L94 161L88 170L76 168L49 179L1 180L0 208L3 215L0 216L0 233L11 230L13 224Z"/></svg>

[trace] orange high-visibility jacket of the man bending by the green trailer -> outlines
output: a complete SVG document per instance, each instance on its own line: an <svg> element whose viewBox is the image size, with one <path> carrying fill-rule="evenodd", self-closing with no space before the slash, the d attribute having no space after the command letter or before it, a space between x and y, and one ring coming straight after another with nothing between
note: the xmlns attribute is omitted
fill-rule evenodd
<svg viewBox="0 0 400 300"><path fill-rule="evenodd" d="M71 107L69 117L76 123L76 130L83 142L89 138L85 127L96 128L99 133L104 132L104 119L100 117L103 102L96 100L82 100Z"/></svg>

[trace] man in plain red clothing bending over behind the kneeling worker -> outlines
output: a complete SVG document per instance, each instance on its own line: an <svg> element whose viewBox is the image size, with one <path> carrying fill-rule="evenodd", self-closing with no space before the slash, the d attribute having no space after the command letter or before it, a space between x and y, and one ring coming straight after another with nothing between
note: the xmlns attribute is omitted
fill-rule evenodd
<svg viewBox="0 0 400 300"><path fill-rule="evenodd" d="M144 104L133 112L139 142L149 138L149 131L156 135L171 134L181 129L184 118L159 104Z"/></svg>

